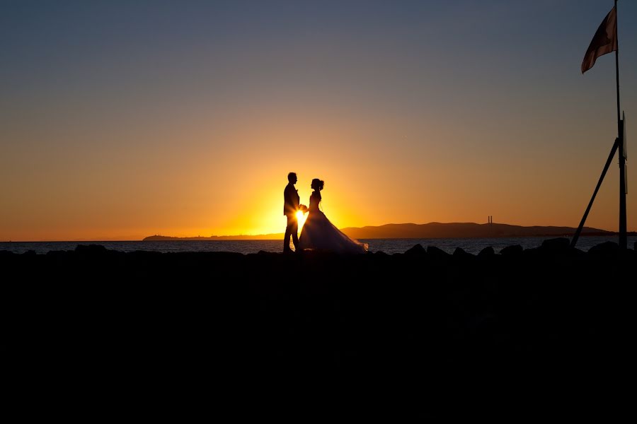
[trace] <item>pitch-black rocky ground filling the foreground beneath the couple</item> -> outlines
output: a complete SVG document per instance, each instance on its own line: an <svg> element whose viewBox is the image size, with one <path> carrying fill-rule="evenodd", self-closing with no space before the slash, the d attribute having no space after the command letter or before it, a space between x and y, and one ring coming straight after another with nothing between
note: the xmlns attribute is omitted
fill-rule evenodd
<svg viewBox="0 0 637 424"><path fill-rule="evenodd" d="M0 269L5 369L93 416L609 418L633 384L637 255L612 243L354 257L90 245L0 252Z"/></svg>

